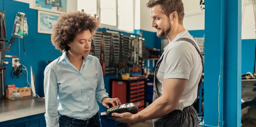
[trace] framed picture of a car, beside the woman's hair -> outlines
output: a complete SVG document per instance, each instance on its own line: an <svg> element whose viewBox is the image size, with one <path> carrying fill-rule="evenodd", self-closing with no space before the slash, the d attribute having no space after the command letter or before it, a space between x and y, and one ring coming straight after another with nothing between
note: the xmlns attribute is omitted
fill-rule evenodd
<svg viewBox="0 0 256 127"><path fill-rule="evenodd" d="M56 23L60 14L39 11L37 14L37 32L52 34L53 24Z"/></svg>

